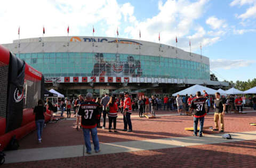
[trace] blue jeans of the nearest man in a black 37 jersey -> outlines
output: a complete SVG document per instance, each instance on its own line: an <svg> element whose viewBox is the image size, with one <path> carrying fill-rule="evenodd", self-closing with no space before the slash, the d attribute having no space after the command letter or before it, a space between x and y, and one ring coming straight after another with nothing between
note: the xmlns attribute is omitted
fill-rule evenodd
<svg viewBox="0 0 256 168"><path fill-rule="evenodd" d="M95 127L95 128L83 128L86 152L91 152L91 150L92 150L91 141L90 141L90 132L91 132L91 135L92 135L94 150L95 150L95 152L98 152L99 149L100 149L100 145L99 145L99 139L98 139L98 135L97 135L97 127Z"/></svg>

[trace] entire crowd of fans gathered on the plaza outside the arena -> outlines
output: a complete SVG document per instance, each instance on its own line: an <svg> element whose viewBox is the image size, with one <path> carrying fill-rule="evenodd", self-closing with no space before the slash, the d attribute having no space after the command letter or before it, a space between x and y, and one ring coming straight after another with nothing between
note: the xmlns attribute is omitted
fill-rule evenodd
<svg viewBox="0 0 256 168"><path fill-rule="evenodd" d="M79 95L77 99L71 101L66 98L60 101L61 117L63 112L67 111L67 117L71 116L71 107L73 106L76 116L76 129L82 128L84 141L86 146L86 153L91 154L90 132L94 144L94 150L96 153L100 152L99 139L97 135L97 128L106 129L106 117L108 116L108 131L118 132L116 129L116 119L118 112L123 114L124 129L122 131L132 132L131 114L132 111L138 110L139 116L145 116L145 113L151 113L156 115L157 110L161 110L162 106L164 110L177 110L179 115L182 115L182 111L185 114L193 115L194 117L194 136L197 136L197 125L199 122L199 136L203 136L203 124L204 117L211 107L214 109L214 125L213 131L224 132L224 115L225 113L235 111L243 112L243 99L241 96L229 95L228 97L220 96L220 93L216 93L215 96L210 96L203 90L197 91L196 95L186 95L181 97L168 97L164 96L158 98L158 96L152 95L151 97L141 95L138 99L135 99L125 93L123 98L118 98L108 94L102 95L102 97L93 98L91 93L87 93L85 98ZM256 107L256 97L252 98L253 107ZM65 110L64 110L65 108ZM236 109L237 108L237 109ZM255 109L254 109L255 110ZM44 114L53 117L53 105L46 99L44 104L43 100L38 101L38 105L34 108L37 138L38 142L42 142L42 131L44 127ZM101 115L103 117L101 126ZM220 129L219 129L220 122Z"/></svg>

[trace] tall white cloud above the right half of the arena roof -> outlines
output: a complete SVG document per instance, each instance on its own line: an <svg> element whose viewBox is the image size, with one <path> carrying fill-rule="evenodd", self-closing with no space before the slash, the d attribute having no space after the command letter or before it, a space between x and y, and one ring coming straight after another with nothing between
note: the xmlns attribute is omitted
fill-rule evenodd
<svg viewBox="0 0 256 168"><path fill-rule="evenodd" d="M129 37L158 42L158 33L161 33L161 43L175 45L175 37L178 36L178 47L189 49L188 38L191 38L191 48L199 48L200 41L205 38L205 30L195 21L203 16L208 0L167 0L158 2L159 13L145 21L134 21L125 29ZM190 36L191 31L195 31ZM209 39L210 41L210 39ZM193 42L193 43L192 43Z"/></svg>

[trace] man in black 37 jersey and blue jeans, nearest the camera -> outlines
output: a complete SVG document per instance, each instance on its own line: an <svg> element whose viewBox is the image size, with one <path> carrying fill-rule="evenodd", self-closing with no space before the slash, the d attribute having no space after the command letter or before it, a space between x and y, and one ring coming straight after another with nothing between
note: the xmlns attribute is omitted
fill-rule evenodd
<svg viewBox="0 0 256 168"><path fill-rule="evenodd" d="M92 94L87 93L85 101L79 104L78 115L81 115L81 126L83 128L86 153L91 154L90 132L95 153L100 152L99 139L97 135L97 123L99 120L99 105L92 102Z"/></svg>

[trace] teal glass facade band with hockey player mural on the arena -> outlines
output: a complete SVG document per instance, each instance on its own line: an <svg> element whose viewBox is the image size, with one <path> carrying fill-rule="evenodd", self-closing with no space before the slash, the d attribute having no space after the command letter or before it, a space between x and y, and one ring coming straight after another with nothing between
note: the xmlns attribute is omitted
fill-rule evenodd
<svg viewBox="0 0 256 168"><path fill-rule="evenodd" d="M113 53L17 54L45 77L154 77L210 80L208 64L161 56Z"/></svg>

